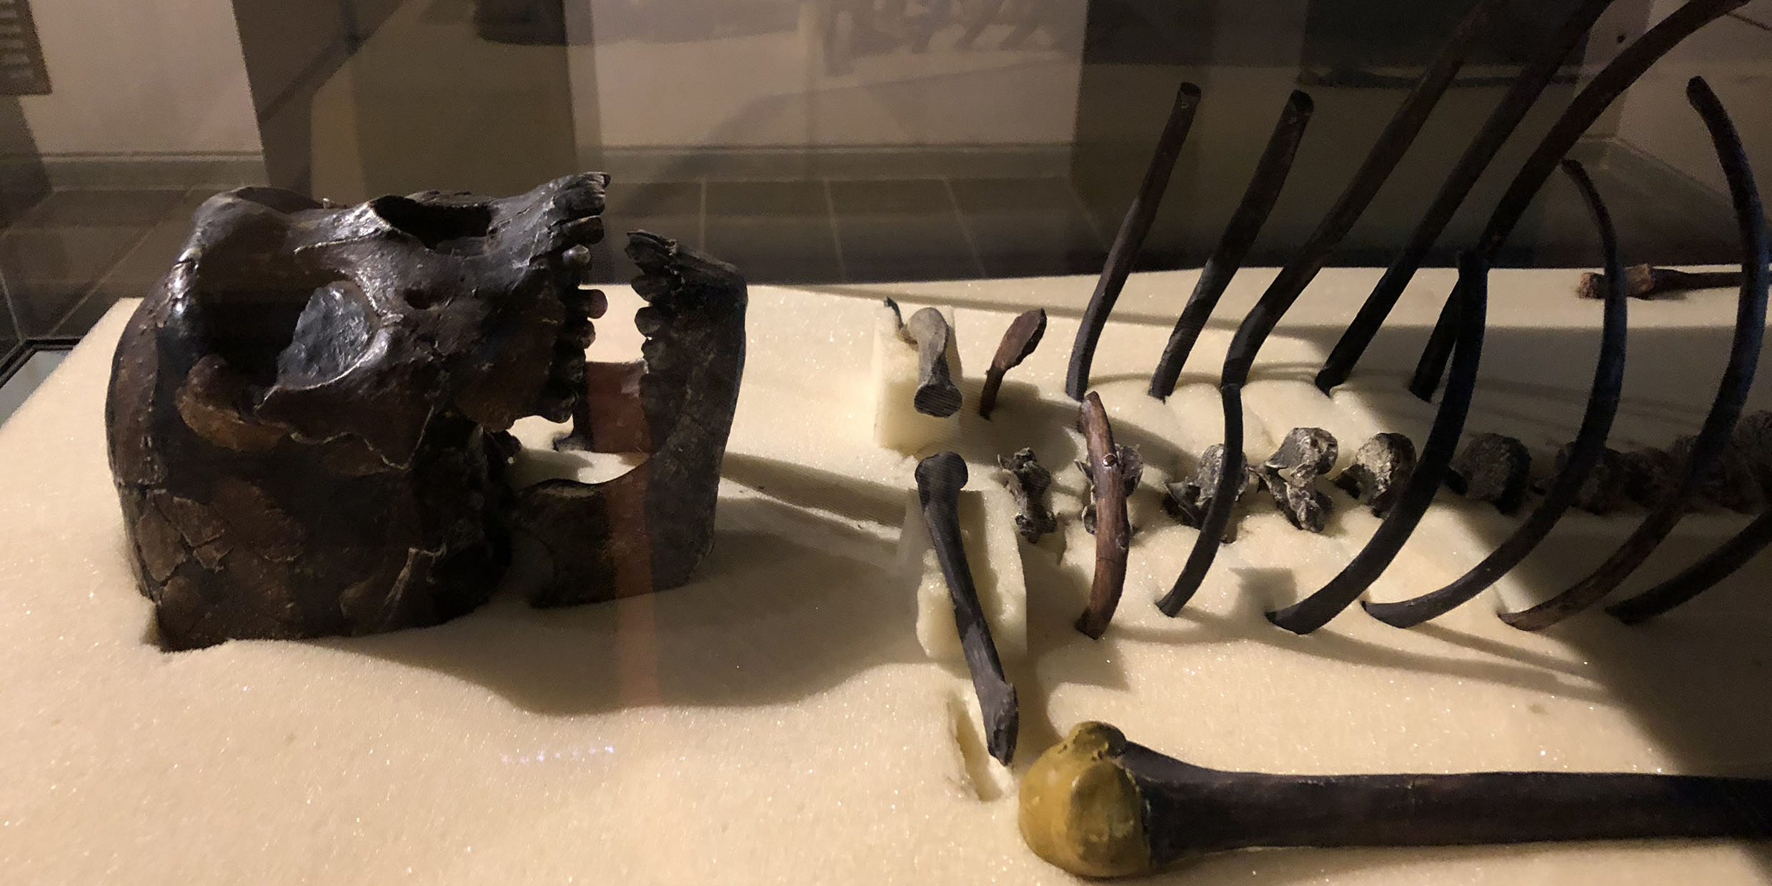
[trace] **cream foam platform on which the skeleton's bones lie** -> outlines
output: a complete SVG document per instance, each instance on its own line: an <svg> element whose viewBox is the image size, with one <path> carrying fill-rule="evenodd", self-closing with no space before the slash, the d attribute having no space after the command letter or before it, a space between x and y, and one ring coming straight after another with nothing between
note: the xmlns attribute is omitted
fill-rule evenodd
<svg viewBox="0 0 1772 886"><path fill-rule="evenodd" d="M1419 275L1352 385L1333 400L1310 386L1377 276L1325 271L1267 346L1247 390L1251 452L1313 424L1348 452L1379 429L1421 443L1432 408L1402 383L1449 271ZM1467 432L1510 432L1538 452L1572 436L1600 315L1574 296L1575 276L1494 273ZM1356 606L1311 636L1262 611L1320 587L1377 521L1338 496L1331 530L1308 535L1258 509L1194 602L1162 617L1152 601L1194 530L1161 512L1157 484L1217 439L1223 347L1271 278L1239 275L1168 404L1143 388L1194 273L1127 285L1095 365L1116 436L1150 464L1127 590L1090 641L1070 627L1088 537L1072 519L1061 562L1022 549L1017 773L1074 723L1106 719L1224 769L1772 774L1772 560L1641 627L1595 610L1524 634L1494 617L1586 574L1639 509L1572 512L1496 590L1425 627L1396 631ZM918 647L914 594L893 576L914 459L870 443L868 353L879 296L953 305L975 374L1012 312L1045 307L1045 342L1010 374L994 422L969 416L957 448L980 484L992 482L980 464L1033 445L1074 517L1081 438L1060 390L1092 285L753 287L719 532L689 587L544 611L505 592L432 629L179 654L149 638L105 464L110 353L135 303L119 305L0 427L0 881L1070 882L1021 843L1014 780L983 755L964 673ZM611 299L594 356L636 347L613 319L631 292ZM1728 291L1630 305L1614 447L1698 431L1733 310ZM1761 376L1756 408L1772 400ZM1690 516L1627 590L1745 521ZM1372 597L1439 587L1513 525L1442 493ZM1768 843L1690 842L1240 852L1152 882L1768 877Z"/></svg>

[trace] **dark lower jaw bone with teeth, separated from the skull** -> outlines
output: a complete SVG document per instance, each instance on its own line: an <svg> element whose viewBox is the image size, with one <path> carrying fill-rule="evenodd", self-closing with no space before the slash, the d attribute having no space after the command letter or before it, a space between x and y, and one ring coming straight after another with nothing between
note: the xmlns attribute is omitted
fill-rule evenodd
<svg viewBox="0 0 1772 886"><path fill-rule="evenodd" d="M535 606L664 590L689 579L714 540L719 462L744 374L744 278L730 264L634 232L634 314L643 360L590 363L572 432L555 448L645 454L604 484L544 480L516 507L549 562Z"/></svg>

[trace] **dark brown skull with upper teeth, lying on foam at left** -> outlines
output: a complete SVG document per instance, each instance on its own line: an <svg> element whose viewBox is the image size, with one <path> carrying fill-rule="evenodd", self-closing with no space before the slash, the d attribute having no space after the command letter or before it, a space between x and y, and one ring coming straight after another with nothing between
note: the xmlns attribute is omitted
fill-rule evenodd
<svg viewBox="0 0 1772 886"><path fill-rule="evenodd" d="M583 174L509 198L431 191L346 209L243 188L198 209L122 335L106 400L112 473L163 647L367 634L486 601L509 565L510 424L622 425L620 395L587 379L602 296L579 287L606 183ZM680 262L664 252L670 276ZM732 284L742 361L744 284ZM657 323L705 319L696 307L672 303ZM643 363L629 374L643 404L629 411L656 422L654 439L666 411L725 402L707 427L712 468L689 471L707 486L711 526L737 369L725 392L677 388L684 372ZM592 400L615 420L587 415Z"/></svg>

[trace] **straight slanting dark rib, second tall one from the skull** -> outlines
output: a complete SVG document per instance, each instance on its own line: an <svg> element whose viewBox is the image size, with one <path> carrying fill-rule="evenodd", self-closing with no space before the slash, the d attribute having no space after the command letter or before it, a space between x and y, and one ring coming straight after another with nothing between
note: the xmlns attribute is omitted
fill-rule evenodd
<svg viewBox="0 0 1772 886"><path fill-rule="evenodd" d="M1162 349L1162 360L1150 374L1152 397L1162 400L1175 393L1175 379L1182 376L1182 363L1187 363L1187 354L1194 349L1200 330L1205 328L1207 317L1217 307L1230 278L1237 276L1237 268L1249 255L1255 236L1262 232L1267 214L1279 200L1279 190L1285 188L1286 174L1292 172L1292 159L1299 152L1299 140L1304 138L1304 124L1311 120L1311 97L1304 92L1294 92L1279 112L1279 122L1274 124L1274 135L1267 138L1267 149L1262 151L1262 159L1255 165L1249 188L1242 191L1242 202L1230 216L1224 236L1219 237L1207 266L1200 269L1200 280L1194 284L1194 292L1187 296L1187 305L1182 307L1182 317L1175 321L1175 331L1170 333L1170 344Z"/></svg>

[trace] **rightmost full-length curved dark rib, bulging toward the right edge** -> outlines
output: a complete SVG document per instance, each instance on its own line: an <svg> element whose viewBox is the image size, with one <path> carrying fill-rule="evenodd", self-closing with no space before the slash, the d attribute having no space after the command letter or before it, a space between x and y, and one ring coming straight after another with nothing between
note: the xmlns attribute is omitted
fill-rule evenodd
<svg viewBox="0 0 1772 886"><path fill-rule="evenodd" d="M1717 94L1703 78L1694 76L1685 87L1687 99L1715 144L1722 174L1729 179L1729 195L1735 198L1735 218L1742 236L1742 296L1735 308L1735 338L1729 342L1729 365L1722 370L1722 383L1717 397L1705 416L1705 427L1692 443L1692 457L1687 461L1685 475L1680 478L1678 493L1662 507L1650 512L1637 530L1625 539L1625 544L1613 553L1588 578L1581 579L1563 594L1550 597L1529 610L1504 613L1503 622L1522 631L1538 631L1593 606L1605 597L1620 581L1648 560L1650 553L1667 537L1685 516L1685 505L1692 500L1699 478L1710 468L1722 448L1729 443L1735 420L1747 402L1747 388L1754 383L1754 367L1760 361L1760 338L1767 323L1767 230L1765 214L1760 209L1760 197L1754 191L1753 172L1747 167L1747 152L1729 113L1722 110ZM1673 604L1678 604L1675 601ZM1627 610L1630 611L1630 610Z"/></svg>

